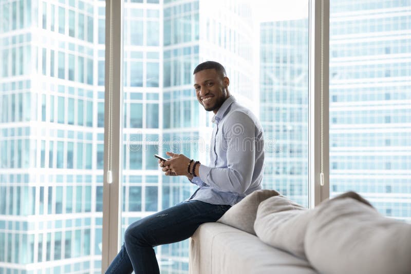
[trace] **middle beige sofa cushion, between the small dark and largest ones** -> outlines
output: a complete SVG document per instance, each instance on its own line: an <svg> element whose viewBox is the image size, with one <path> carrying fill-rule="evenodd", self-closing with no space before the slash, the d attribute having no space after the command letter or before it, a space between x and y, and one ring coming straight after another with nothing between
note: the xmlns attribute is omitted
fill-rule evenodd
<svg viewBox="0 0 411 274"><path fill-rule="evenodd" d="M304 237L312 214L285 197L271 197L259 205L254 229L264 243L305 259Z"/></svg>

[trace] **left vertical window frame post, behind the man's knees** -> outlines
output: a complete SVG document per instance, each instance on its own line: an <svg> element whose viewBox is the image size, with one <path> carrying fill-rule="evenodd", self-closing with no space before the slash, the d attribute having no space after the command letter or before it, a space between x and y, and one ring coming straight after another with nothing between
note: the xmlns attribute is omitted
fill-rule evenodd
<svg viewBox="0 0 411 274"><path fill-rule="evenodd" d="M102 271L119 250L122 162L123 1L106 0Z"/></svg>

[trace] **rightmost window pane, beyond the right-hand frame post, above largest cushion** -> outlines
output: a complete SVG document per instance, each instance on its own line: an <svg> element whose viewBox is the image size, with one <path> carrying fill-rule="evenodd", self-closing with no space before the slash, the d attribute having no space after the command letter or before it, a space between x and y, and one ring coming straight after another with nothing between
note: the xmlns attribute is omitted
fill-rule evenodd
<svg viewBox="0 0 411 274"><path fill-rule="evenodd" d="M354 190L411 222L411 15L399 9L411 4L330 1L330 196Z"/></svg>

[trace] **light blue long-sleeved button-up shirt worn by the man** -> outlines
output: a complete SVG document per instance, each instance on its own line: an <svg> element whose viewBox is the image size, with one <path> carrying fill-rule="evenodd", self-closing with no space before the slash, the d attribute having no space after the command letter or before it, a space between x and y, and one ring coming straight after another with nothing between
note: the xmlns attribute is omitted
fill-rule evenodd
<svg viewBox="0 0 411 274"><path fill-rule="evenodd" d="M261 189L264 173L264 133L260 122L230 96L211 120L215 126L210 163L201 164L199 186L189 200L215 205L235 205Z"/></svg>

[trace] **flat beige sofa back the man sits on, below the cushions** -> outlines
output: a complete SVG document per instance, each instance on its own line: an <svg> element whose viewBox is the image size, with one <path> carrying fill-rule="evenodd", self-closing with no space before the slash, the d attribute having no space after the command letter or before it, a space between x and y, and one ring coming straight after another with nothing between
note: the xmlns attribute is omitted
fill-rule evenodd
<svg viewBox="0 0 411 274"><path fill-rule="evenodd" d="M206 223L190 239L190 274L315 274L306 260L237 228Z"/></svg>

